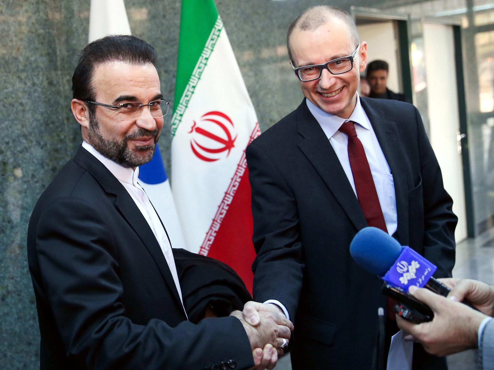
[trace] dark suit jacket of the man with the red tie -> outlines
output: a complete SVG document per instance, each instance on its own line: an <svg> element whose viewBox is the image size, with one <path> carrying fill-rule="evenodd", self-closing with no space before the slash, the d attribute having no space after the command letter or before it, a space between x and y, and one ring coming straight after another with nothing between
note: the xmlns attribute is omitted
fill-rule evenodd
<svg viewBox="0 0 494 370"><path fill-rule="evenodd" d="M391 168L397 238L451 276L452 199L418 111L362 98ZM328 138L304 102L247 147L254 218L253 296L278 299L294 319L294 369L371 369L381 283L349 246L367 226ZM438 369L438 368L436 368Z"/></svg>

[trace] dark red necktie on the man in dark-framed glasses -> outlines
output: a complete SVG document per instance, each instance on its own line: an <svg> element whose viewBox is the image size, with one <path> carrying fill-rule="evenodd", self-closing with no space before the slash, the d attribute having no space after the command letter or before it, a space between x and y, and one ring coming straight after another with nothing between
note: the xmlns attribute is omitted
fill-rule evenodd
<svg viewBox="0 0 494 370"><path fill-rule="evenodd" d="M374 179L372 179L371 167L369 167L364 146L357 137L355 123L352 121L345 122L339 128L339 131L348 136L348 158L350 159L357 198L362 211L364 211L367 224L388 232L375 189ZM395 303L394 299L388 298L386 313L390 320L395 320L393 311Z"/></svg>

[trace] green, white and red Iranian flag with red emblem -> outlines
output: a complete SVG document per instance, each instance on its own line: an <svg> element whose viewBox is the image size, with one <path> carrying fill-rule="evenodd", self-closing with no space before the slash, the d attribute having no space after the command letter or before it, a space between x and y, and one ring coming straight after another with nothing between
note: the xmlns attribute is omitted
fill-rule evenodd
<svg viewBox="0 0 494 370"><path fill-rule="evenodd" d="M252 291L245 149L260 131L213 0L182 1L171 134L171 185L187 248L230 265Z"/></svg>

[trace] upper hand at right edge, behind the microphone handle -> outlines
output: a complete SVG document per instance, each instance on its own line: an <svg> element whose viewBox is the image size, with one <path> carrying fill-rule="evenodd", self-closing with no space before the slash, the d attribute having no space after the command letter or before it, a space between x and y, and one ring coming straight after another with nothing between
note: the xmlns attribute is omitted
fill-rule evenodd
<svg viewBox="0 0 494 370"><path fill-rule="evenodd" d="M494 317L494 287L471 279L438 279L451 288L448 298L461 302L466 299L482 313Z"/></svg>

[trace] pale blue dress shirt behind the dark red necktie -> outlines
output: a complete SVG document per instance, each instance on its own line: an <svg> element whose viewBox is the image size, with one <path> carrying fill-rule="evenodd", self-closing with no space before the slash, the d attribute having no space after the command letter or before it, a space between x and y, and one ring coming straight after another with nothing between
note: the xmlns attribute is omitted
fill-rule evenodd
<svg viewBox="0 0 494 370"><path fill-rule="evenodd" d="M343 123L348 121L355 122L355 131L366 152L367 161L371 168L372 179L374 180L377 197L379 198L379 204L381 205L388 234L393 235L398 226L393 175L391 174L391 170L384 157L381 146L377 141L371 121L360 104L359 95L357 94L355 109L347 119L323 111L308 99L305 99L305 102L307 108L309 108L309 111L314 118L316 118L326 134L326 137L328 138L331 147L334 149L341 167L343 167L343 171L345 171L346 177L352 186L353 192L357 196L352 168L350 167L350 159L348 158L348 136L338 131ZM378 122L376 124L378 124Z"/></svg>

